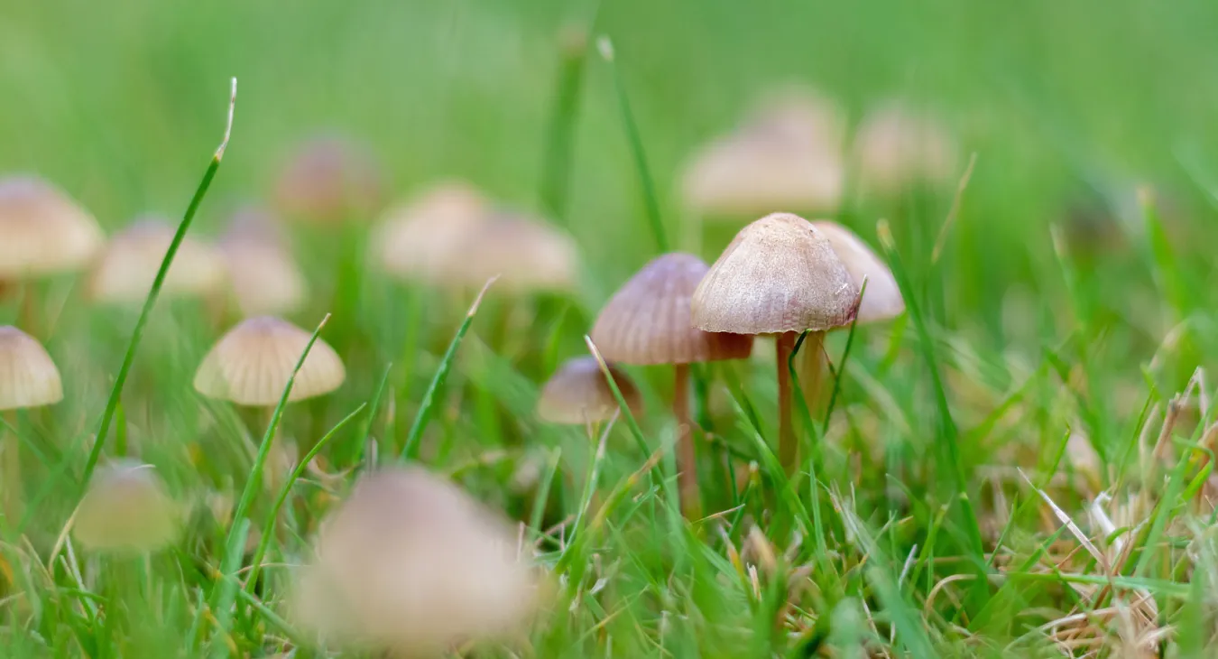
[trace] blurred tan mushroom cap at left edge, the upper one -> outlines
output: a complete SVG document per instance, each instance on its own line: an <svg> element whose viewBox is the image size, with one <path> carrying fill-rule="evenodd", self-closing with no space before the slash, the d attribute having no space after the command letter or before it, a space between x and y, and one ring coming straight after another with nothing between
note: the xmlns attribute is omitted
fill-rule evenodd
<svg viewBox="0 0 1218 659"><path fill-rule="evenodd" d="M97 220L50 183L0 179L0 279L83 268L102 242Z"/></svg>

